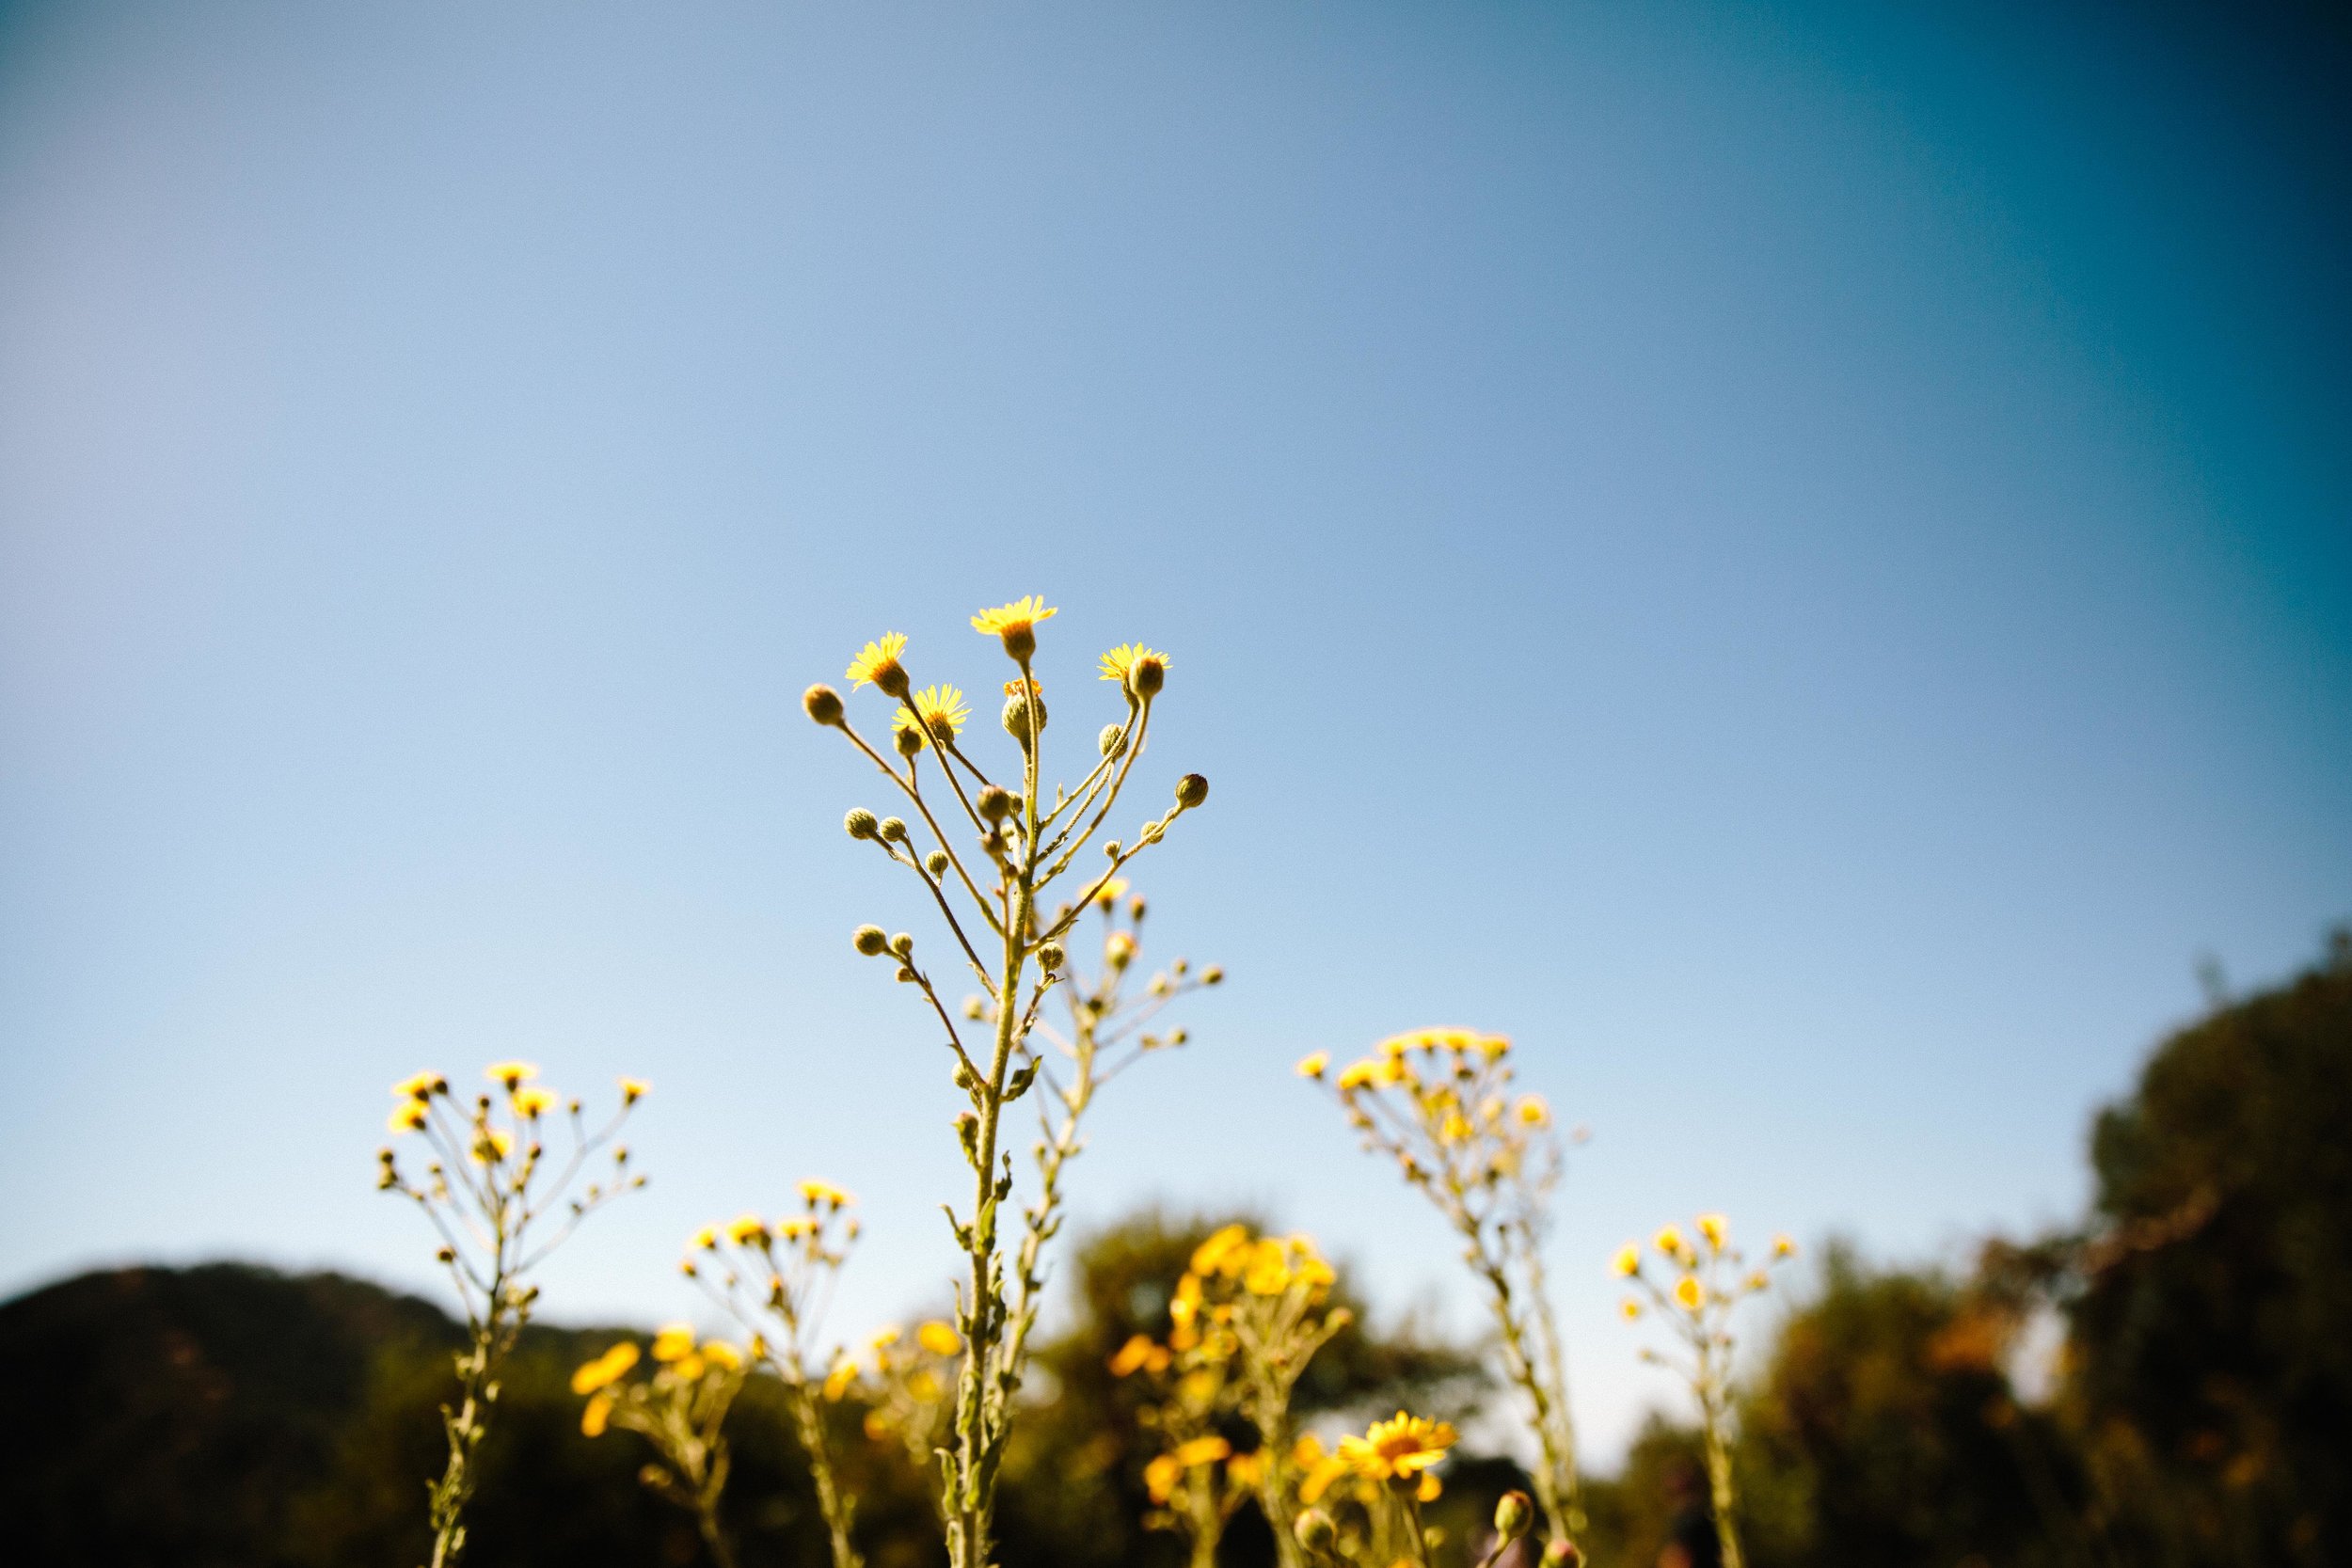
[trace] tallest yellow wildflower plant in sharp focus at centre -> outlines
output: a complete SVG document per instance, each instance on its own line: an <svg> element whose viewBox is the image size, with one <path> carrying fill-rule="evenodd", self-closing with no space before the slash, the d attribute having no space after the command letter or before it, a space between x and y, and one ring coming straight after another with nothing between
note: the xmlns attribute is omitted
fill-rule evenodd
<svg viewBox="0 0 2352 1568"><path fill-rule="evenodd" d="M1016 1291L1004 1279L1000 1213L1014 1185L1011 1157L1000 1147L1004 1107L1028 1093L1042 1070L1030 1034L1044 994L1061 983L1068 961L1063 938L1080 912L1094 907L1103 889L1157 844L1178 816L1209 799L1209 780L1185 773L1169 811L1148 818L1131 842L1105 842L1105 865L1098 870L1075 870L1143 757L1169 661L1138 644L1103 654L1098 672L1120 689L1124 715L1096 736L1096 757L1080 783L1054 785L1047 802L1047 701L1035 654L1037 628L1054 614L1033 595L971 618L971 628L995 637L1014 665L1000 726L1014 741L1016 771L1004 783L990 778L967 752L971 708L964 693L946 684L915 689L901 632L866 644L849 665L851 696L870 684L894 703L891 736L882 748L858 733L842 696L830 686L809 686L802 696L809 717L837 729L863 752L917 818L920 825L910 825L898 816L877 818L858 809L847 816L844 827L922 884L953 943L950 964L967 964L983 992L981 1016L967 1023L985 1030L985 1037L976 1030L967 1044L931 973L915 957L913 933L889 936L868 924L851 938L858 952L889 957L898 983L915 987L946 1034L955 1088L964 1095L955 1135L974 1175L974 1194L964 1215L948 1208L967 1262L967 1276L957 1286L964 1361L950 1441L941 1450L941 1514L955 1568L988 1563L997 1474L1025 1361L1025 1328L1011 1331L1011 1309L1016 1291L1025 1305L1042 1288L1035 1248L1028 1244L1021 1248ZM1047 912L1049 889L1063 879L1075 886L1075 896ZM1037 1234L1037 1246L1051 1234L1056 1213L1042 1201L1030 1208L1025 1225Z"/></svg>

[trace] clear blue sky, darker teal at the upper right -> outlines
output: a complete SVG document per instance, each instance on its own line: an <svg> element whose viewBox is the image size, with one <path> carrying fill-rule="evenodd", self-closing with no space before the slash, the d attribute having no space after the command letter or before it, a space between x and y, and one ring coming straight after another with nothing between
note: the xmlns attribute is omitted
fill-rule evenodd
<svg viewBox="0 0 2352 1568"><path fill-rule="evenodd" d="M2079 1213L2199 954L2352 914L2347 54L2199 16L7 9L0 1288L430 1291L386 1086L520 1053L656 1084L555 1316L802 1173L842 1331L938 1300L955 1095L847 943L924 926L797 693L993 689L1023 592L1077 750L1174 654L1143 886L1232 973L1082 1218L1470 1324L1289 1067L1510 1032L1609 1450L1625 1234Z"/></svg>

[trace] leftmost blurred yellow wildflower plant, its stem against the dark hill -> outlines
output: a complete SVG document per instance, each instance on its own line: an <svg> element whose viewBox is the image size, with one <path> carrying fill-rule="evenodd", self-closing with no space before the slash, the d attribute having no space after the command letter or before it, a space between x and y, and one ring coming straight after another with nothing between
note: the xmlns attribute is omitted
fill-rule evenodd
<svg viewBox="0 0 2352 1568"><path fill-rule="evenodd" d="M644 1098L640 1079L621 1079L621 1105L602 1128L588 1131L581 1103L539 1084L534 1065L496 1063L485 1077L499 1093L475 1095L470 1105L461 1105L437 1072L395 1084L390 1131L423 1143L423 1173L412 1175L390 1147L376 1152L376 1187L414 1201L440 1232L435 1258L466 1309L459 1401L442 1406L449 1458L428 1500L433 1568L452 1568L466 1554L466 1505L499 1403L499 1373L539 1300L532 1272L581 1220L644 1185L628 1168L628 1147L614 1143ZM557 1112L569 1133L562 1159L546 1147L546 1124ZM600 1159L607 1150L609 1168ZM586 1178L590 1161L607 1175Z"/></svg>

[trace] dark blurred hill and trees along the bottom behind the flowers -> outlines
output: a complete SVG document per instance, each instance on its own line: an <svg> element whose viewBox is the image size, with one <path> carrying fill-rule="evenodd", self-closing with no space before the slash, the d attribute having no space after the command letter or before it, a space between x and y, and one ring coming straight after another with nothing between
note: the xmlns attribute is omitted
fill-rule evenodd
<svg viewBox="0 0 2352 1568"><path fill-rule="evenodd" d="M1743 1401L1757 1568L2251 1568L2352 1561L2352 938L2166 1039L2091 1135L2084 1225L1992 1239L1969 1267L1872 1267L1832 1244L1757 1342ZM1148 1434L1108 1371L1164 1333L1192 1246L1256 1215L1143 1213L1065 1265L1004 1495L1007 1563L1181 1563L1141 1528ZM1477 1345L1364 1312L1301 1385L1310 1420L1472 1418ZM16 1561L414 1568L454 1324L336 1274L247 1265L85 1274L0 1307ZM539 1326L501 1394L485 1563L701 1561L626 1436L579 1434L567 1380L621 1331ZM842 1406L875 1568L943 1561L929 1479ZM1472 1432L1494 1429L1491 1422ZM774 1389L731 1418L743 1561L811 1568L823 1530ZM1686 1533L1696 1434L1656 1418L1592 1483L1592 1559L1658 1563ZM1458 1552L1508 1458L1461 1455L1437 1509ZM1225 1561L1272 1561L1244 1514Z"/></svg>

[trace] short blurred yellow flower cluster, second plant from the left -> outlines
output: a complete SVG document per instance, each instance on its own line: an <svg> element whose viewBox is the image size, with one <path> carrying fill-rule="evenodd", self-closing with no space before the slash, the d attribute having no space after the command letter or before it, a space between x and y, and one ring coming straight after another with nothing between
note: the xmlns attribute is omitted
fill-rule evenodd
<svg viewBox="0 0 2352 1568"><path fill-rule="evenodd" d="M642 1434L659 1462L637 1472L652 1490L694 1514L710 1561L734 1568L734 1542L720 1523L727 1493L727 1410L743 1392L746 1359L727 1340L694 1342L689 1324L670 1324L654 1335L652 1373L630 1378L642 1363L633 1340L572 1373L572 1392L586 1394L581 1432L604 1436L621 1427Z"/></svg>

